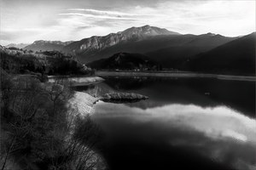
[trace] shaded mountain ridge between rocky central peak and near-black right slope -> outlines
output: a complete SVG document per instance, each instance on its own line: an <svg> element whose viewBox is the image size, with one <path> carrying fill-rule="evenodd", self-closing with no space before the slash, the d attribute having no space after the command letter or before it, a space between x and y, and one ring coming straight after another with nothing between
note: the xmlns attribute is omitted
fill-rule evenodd
<svg viewBox="0 0 256 170"><path fill-rule="evenodd" d="M175 40L169 40L159 49L145 53L150 59L155 59L166 68L183 70L183 63L201 54L216 48L224 43L235 40L237 37L224 37L219 34L184 35Z"/></svg>

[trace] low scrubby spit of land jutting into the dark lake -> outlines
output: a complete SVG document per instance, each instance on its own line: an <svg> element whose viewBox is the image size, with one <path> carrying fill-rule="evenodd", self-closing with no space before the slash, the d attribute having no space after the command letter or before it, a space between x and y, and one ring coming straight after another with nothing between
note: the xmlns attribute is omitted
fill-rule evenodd
<svg viewBox="0 0 256 170"><path fill-rule="evenodd" d="M137 102L142 99L148 99L148 96L144 96L142 94L129 94L129 93L111 93L111 94L103 94L100 98L105 102L113 102L113 103L124 103L124 102Z"/></svg>

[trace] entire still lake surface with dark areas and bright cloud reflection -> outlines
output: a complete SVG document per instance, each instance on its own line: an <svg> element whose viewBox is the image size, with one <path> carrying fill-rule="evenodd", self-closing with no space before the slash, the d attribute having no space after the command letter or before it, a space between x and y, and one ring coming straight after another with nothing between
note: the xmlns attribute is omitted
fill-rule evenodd
<svg viewBox="0 0 256 170"><path fill-rule="evenodd" d="M79 91L134 92L132 104L99 102L110 169L256 169L255 82L104 77Z"/></svg>

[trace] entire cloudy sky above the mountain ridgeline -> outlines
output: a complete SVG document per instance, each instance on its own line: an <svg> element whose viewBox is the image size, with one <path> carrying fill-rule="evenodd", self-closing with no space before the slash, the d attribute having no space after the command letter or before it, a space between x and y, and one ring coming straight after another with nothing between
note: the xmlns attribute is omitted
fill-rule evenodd
<svg viewBox="0 0 256 170"><path fill-rule="evenodd" d="M0 0L0 44L78 41L131 26L227 37L255 31L254 0Z"/></svg>

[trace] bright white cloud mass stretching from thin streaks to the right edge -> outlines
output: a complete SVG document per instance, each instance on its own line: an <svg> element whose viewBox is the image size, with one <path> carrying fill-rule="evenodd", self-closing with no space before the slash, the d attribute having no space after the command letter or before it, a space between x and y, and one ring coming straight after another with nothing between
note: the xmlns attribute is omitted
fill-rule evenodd
<svg viewBox="0 0 256 170"><path fill-rule="evenodd" d="M253 31L253 3L252 1L164 2L158 3L154 8L140 5L135 8L122 8L125 13L116 10L69 8L67 10L71 12L66 15L84 16L84 20L90 20L87 24L108 26L113 30L112 32L125 30L131 26L151 25L181 33L203 34L212 31L232 37ZM110 32L106 32L108 33Z"/></svg>

